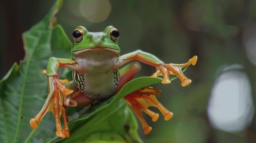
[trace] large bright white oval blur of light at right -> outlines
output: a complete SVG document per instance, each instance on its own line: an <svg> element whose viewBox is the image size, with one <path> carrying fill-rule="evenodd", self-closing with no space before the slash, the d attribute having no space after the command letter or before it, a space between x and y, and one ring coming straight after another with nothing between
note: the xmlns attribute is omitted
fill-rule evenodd
<svg viewBox="0 0 256 143"><path fill-rule="evenodd" d="M225 68L226 71L216 79L209 99L207 110L211 125L226 132L245 129L254 114L249 78L237 69L239 67Z"/></svg>

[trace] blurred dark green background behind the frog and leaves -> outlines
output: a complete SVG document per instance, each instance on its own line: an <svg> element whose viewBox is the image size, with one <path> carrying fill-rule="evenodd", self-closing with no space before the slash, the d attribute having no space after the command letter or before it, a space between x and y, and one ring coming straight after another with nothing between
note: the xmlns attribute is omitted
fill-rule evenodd
<svg viewBox="0 0 256 143"><path fill-rule="evenodd" d="M21 34L39 22L54 0L0 0L0 77L23 59ZM120 32L121 54L137 49L166 63L198 63L192 84L157 84L159 101L174 116L159 117L145 143L256 142L256 0L64 0L58 23L70 37L76 26ZM155 68L142 64L137 77ZM151 108L156 112L155 108Z"/></svg>

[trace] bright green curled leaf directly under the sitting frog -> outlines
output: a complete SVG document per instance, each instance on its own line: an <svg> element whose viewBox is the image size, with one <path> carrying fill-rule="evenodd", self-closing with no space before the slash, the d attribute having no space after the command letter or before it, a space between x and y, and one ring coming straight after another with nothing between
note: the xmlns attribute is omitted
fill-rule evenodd
<svg viewBox="0 0 256 143"><path fill-rule="evenodd" d="M187 68L187 67L186 67ZM186 70L186 68L183 68L182 71ZM122 69L121 69L122 70ZM121 72L120 70L120 72ZM176 76L171 76L170 80L173 80L177 78ZM133 79L129 81L127 84L124 85L123 88L115 95L114 97L102 101L98 103L97 105L92 105L88 109L88 112L85 114L82 114L79 118L74 119L70 121L69 123L69 129L70 129L70 138L67 139L55 139L54 143L70 143L70 142L78 142L78 141L85 141L88 139L88 136L91 136L92 132L124 132L124 128L108 128L105 130L105 126L108 126L107 123L109 123L112 120L121 120L121 117L119 114L115 113L118 112L124 113L126 110L123 110L122 108L117 108L116 104L125 104L122 97L125 97L129 93L138 90L140 88L144 88L146 86L150 86L152 84L157 84L162 81L162 78L155 78L155 77L139 77L137 79ZM115 114L114 114L115 113ZM124 116L124 115L122 115ZM134 118L134 117L133 117ZM130 134L132 134L132 142L141 142L141 139L137 135L137 123L128 121L127 123L132 124L133 128L132 131L130 130ZM97 124L97 125L95 125ZM115 125L120 126L124 125L116 123ZM123 126L122 126L123 127ZM93 130L92 130L93 129ZM96 130L96 131L95 131ZM126 138L129 140L130 138ZM96 140L96 138L95 138ZM98 141L98 140L97 140Z"/></svg>

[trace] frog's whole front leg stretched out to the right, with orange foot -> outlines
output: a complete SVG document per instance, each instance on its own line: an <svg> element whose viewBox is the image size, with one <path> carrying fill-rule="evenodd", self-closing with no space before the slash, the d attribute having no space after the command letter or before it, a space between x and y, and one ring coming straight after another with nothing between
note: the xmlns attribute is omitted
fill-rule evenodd
<svg viewBox="0 0 256 143"><path fill-rule="evenodd" d="M182 73L182 68L191 64L195 65L197 62L197 56L192 57L185 64L164 64L164 62L156 56L141 50L137 50L132 53L120 56L115 68L119 68L120 66L123 66L132 60L138 60L145 64L155 66L156 72L152 75L152 77L162 76L162 84L170 84L171 81L169 80L169 76L176 75L182 81L182 86L188 86L191 84L191 80Z"/></svg>

